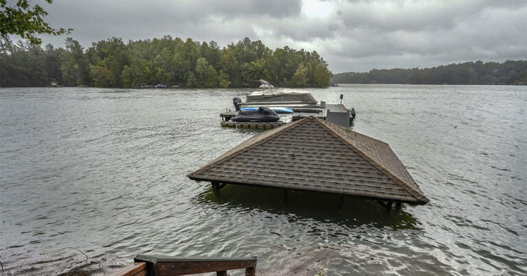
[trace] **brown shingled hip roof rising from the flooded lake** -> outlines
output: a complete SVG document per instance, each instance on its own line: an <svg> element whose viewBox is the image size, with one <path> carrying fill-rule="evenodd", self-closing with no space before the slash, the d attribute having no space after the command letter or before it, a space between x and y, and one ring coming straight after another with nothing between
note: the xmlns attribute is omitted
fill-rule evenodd
<svg viewBox="0 0 527 276"><path fill-rule="evenodd" d="M314 116L253 136L187 177L428 203L388 144Z"/></svg>

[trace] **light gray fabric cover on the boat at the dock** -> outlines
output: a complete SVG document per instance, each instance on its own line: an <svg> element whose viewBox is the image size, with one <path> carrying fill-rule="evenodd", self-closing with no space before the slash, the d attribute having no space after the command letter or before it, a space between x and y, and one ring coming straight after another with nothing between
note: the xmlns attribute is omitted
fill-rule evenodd
<svg viewBox="0 0 527 276"><path fill-rule="evenodd" d="M317 103L316 99L311 93L303 90L292 90L283 89L274 91L272 89L266 89L261 91L255 91L250 95L247 95L247 103L250 102L294 102L299 101L303 103Z"/></svg>

